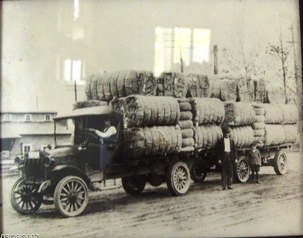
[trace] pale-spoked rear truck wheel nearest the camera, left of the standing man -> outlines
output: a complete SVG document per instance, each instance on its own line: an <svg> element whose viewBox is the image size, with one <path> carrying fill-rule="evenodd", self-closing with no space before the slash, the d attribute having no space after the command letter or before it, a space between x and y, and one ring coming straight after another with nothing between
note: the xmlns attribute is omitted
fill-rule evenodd
<svg viewBox="0 0 303 238"><path fill-rule="evenodd" d="M190 184L188 166L181 161L171 163L166 173L166 184L173 195L185 194Z"/></svg>

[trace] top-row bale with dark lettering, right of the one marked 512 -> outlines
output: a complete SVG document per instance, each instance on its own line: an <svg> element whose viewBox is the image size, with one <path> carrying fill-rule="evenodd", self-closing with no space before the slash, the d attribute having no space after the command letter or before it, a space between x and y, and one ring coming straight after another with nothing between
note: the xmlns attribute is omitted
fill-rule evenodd
<svg viewBox="0 0 303 238"><path fill-rule="evenodd" d="M212 81L207 75L188 74L188 94L189 97L209 98L212 92Z"/></svg>

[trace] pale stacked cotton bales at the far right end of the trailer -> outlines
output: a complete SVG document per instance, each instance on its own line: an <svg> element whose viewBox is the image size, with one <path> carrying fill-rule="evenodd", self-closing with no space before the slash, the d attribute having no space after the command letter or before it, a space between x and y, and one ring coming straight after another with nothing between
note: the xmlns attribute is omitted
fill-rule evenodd
<svg viewBox="0 0 303 238"><path fill-rule="evenodd" d="M295 105L259 103L254 106L265 111L265 146L296 142L298 110Z"/></svg>

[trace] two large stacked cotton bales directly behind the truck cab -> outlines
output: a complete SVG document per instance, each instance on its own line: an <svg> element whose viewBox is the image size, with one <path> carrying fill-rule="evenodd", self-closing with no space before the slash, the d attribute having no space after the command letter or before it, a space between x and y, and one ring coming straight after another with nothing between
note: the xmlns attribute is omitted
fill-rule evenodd
<svg viewBox="0 0 303 238"><path fill-rule="evenodd" d="M180 108L173 97L131 95L110 102L123 118L125 156L156 156L178 153L182 134L177 126Z"/></svg>

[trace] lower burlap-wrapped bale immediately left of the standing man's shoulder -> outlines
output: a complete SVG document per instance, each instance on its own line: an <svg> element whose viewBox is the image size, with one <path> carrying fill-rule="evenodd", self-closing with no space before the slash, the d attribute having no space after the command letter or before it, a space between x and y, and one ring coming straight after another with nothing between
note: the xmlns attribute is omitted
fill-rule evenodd
<svg viewBox="0 0 303 238"><path fill-rule="evenodd" d="M200 125L194 127L194 139L196 149L214 148L223 136L220 126Z"/></svg>

